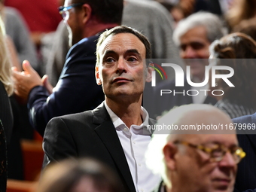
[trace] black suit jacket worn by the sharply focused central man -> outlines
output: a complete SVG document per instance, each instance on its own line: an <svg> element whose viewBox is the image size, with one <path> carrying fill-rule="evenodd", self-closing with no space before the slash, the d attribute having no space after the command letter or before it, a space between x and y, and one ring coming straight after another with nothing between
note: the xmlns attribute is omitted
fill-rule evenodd
<svg viewBox="0 0 256 192"><path fill-rule="evenodd" d="M47 124L43 147L47 156L44 165L67 157L93 157L117 172L123 191L136 191L122 145L103 103L93 111L54 117Z"/></svg>

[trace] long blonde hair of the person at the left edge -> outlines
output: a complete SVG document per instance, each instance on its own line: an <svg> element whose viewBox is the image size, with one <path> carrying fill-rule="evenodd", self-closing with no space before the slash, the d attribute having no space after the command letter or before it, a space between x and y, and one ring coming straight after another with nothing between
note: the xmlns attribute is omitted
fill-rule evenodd
<svg viewBox="0 0 256 192"><path fill-rule="evenodd" d="M0 17L0 81L5 86L8 96L14 92L14 84L11 80L11 60L6 44L5 25Z"/></svg>

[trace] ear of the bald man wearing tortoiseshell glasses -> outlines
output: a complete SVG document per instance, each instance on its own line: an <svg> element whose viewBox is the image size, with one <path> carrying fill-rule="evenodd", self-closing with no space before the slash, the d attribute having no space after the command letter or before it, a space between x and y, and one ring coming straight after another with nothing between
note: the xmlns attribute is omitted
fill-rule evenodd
<svg viewBox="0 0 256 192"><path fill-rule="evenodd" d="M164 160L166 162L166 167L170 170L176 169L175 154L177 153L177 147L172 143L167 143L163 148Z"/></svg>

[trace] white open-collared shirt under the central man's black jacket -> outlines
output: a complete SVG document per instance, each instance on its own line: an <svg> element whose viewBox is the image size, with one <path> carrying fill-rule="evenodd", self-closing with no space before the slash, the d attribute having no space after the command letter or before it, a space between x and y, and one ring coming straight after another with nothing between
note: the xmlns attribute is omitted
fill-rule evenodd
<svg viewBox="0 0 256 192"><path fill-rule="evenodd" d="M160 183L160 175L154 175L145 164L145 151L151 141L151 131L147 129L148 112L141 107L141 115L144 122L139 126L132 125L129 128L123 123L123 120L111 111L106 102L105 108L111 117L123 147L136 191L149 192L153 190Z"/></svg>

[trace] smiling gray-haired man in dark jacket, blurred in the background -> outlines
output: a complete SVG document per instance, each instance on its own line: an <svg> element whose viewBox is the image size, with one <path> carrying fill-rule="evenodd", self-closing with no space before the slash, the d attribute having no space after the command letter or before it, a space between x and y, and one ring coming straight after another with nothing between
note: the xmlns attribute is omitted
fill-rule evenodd
<svg viewBox="0 0 256 192"><path fill-rule="evenodd" d="M194 83L203 82L205 79L205 67L209 65L209 45L215 39L224 35L224 28L221 20L215 14L198 12L192 14L178 23L173 40L180 49L180 56L184 59L186 66L190 66L190 80ZM175 81L166 81L157 86L157 103L154 113L161 115L163 111L168 111L174 106L190 103L206 103L214 105L216 99L208 96L200 90L210 90L209 84L203 87L191 87L187 80L184 80L184 87L175 87ZM175 90L178 93L195 90L199 94L196 96L183 94L163 94L160 90Z"/></svg>

